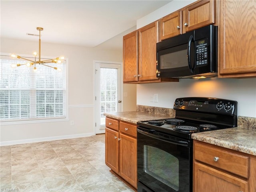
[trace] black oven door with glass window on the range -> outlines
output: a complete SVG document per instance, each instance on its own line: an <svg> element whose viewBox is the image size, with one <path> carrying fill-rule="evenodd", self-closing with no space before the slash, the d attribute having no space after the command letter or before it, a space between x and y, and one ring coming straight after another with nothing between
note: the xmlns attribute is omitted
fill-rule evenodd
<svg viewBox="0 0 256 192"><path fill-rule="evenodd" d="M192 192L192 140L137 128L138 192Z"/></svg>

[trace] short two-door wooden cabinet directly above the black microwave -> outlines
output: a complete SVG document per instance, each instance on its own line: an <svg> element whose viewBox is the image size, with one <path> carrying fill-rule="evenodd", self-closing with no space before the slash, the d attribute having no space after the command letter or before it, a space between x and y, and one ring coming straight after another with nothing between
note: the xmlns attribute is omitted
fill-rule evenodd
<svg viewBox="0 0 256 192"><path fill-rule="evenodd" d="M215 1L197 1L159 20L160 40L215 22Z"/></svg>

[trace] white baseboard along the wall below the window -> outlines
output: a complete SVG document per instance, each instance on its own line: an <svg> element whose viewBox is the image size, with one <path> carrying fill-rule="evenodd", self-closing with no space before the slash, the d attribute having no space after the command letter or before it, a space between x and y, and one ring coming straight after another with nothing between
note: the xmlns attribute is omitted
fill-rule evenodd
<svg viewBox="0 0 256 192"><path fill-rule="evenodd" d="M79 138L79 137L90 137L90 136L93 136L93 135L95 135L95 133L63 135L63 136L56 136L56 137L43 137L43 138L36 138L36 139L3 141L3 142L0 142L0 146L18 145L18 144L26 144L26 143L36 143L36 142L53 141L53 140L61 140L61 139L72 139L72 138Z"/></svg>

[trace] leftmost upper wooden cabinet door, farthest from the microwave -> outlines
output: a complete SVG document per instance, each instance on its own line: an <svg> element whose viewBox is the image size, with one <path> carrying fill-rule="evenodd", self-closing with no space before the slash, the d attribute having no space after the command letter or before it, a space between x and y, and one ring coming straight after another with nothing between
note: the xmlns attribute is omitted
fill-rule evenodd
<svg viewBox="0 0 256 192"><path fill-rule="evenodd" d="M123 82L138 81L138 31L123 37Z"/></svg>

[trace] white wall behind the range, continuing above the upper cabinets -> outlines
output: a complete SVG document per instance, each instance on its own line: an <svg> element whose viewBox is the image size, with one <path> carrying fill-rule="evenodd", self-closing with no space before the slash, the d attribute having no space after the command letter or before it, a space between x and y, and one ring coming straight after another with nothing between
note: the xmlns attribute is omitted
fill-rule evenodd
<svg viewBox="0 0 256 192"><path fill-rule="evenodd" d="M137 29L162 18L190 3L174 0L162 8L137 20ZM158 93L159 102L150 102L150 95ZM216 97L238 101L238 115L256 117L256 78L248 79L185 79L180 82L138 84L137 104L173 108L179 97Z"/></svg>

